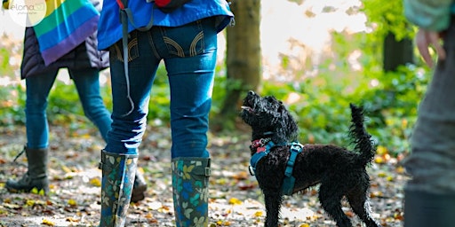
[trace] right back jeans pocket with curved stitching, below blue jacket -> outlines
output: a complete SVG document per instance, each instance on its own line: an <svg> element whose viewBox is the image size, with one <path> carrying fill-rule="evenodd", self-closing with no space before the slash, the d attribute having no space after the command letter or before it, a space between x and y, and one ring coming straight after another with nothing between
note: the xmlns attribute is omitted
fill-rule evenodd
<svg viewBox="0 0 455 227"><path fill-rule="evenodd" d="M201 20L182 27L162 27L162 34L170 57L194 57L204 53L204 27Z"/></svg>

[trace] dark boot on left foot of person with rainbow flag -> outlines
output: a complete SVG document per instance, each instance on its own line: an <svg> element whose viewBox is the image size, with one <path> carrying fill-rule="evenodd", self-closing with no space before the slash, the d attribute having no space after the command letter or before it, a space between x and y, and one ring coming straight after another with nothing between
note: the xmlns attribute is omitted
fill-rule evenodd
<svg viewBox="0 0 455 227"><path fill-rule="evenodd" d="M49 179L47 178L48 149L31 149L24 147L22 153L26 153L28 171L19 180L9 179L4 187L8 192L31 192L34 188L38 192L49 192ZM18 155L18 157L20 156Z"/></svg>

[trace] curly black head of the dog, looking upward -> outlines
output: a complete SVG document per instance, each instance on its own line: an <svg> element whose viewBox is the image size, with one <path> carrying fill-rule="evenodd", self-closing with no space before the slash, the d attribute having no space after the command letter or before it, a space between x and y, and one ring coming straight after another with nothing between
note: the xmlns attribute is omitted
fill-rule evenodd
<svg viewBox="0 0 455 227"><path fill-rule="evenodd" d="M276 144L297 137L297 123L283 103L273 96L259 97L253 91L243 99L242 120L251 126L252 139L272 137ZM271 136L267 136L267 135Z"/></svg>

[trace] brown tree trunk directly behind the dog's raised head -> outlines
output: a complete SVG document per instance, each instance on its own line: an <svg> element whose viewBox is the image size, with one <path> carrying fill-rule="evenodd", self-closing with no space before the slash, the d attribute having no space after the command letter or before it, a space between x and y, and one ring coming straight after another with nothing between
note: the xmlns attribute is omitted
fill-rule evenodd
<svg viewBox="0 0 455 227"><path fill-rule="evenodd" d="M227 92L218 117L221 128L235 120L243 94L257 90L261 77L260 0L232 0L230 7L235 26L228 27Z"/></svg>

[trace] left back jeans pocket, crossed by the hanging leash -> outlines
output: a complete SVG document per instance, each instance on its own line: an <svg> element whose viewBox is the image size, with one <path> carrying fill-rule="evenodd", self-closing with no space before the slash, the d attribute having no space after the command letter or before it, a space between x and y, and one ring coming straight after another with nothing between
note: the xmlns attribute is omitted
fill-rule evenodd
<svg viewBox="0 0 455 227"><path fill-rule="evenodd" d="M124 62L124 45L122 39L109 47L109 59ZM132 31L128 35L128 62L139 57L138 31Z"/></svg>

